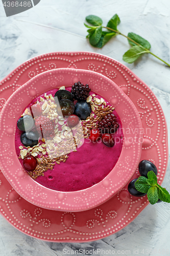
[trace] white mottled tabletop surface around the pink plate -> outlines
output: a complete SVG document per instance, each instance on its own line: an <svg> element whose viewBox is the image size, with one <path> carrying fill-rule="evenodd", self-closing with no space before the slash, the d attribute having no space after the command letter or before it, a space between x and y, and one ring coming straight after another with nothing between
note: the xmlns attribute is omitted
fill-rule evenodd
<svg viewBox="0 0 170 256"><path fill-rule="evenodd" d="M124 63L122 56L129 49L126 38L117 36L103 49L91 47L85 39L85 16L101 16L106 24L115 13L121 20L118 27L121 32L134 32L148 39L152 46L151 50L170 62L168 0L41 0L36 7L11 17L6 17L1 2L0 80L27 59L53 51L93 51ZM151 55L143 56L134 64L124 64L152 88L162 105L170 132L170 68ZM163 181L164 187L168 190L169 179L170 166ZM65 255L64 248L70 251L111 249L115 250L115 255L135 255L134 250L138 255L170 255L169 217L169 204L162 202L149 205L131 224L116 234L96 242L80 244L51 243L33 239L16 230L0 216L0 255ZM105 254L103 252L98 255Z"/></svg>

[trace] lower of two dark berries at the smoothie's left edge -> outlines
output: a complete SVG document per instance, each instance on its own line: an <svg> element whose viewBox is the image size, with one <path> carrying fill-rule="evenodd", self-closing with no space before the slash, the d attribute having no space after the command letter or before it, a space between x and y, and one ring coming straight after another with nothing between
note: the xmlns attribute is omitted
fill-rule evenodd
<svg viewBox="0 0 170 256"><path fill-rule="evenodd" d="M39 135L36 132L30 131L24 132L20 136L20 141L25 146L35 146L38 144Z"/></svg>

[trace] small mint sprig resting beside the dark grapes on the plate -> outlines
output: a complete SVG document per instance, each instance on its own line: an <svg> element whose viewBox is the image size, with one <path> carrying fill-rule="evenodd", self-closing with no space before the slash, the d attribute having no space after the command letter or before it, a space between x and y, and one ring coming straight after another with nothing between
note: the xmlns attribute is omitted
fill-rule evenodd
<svg viewBox="0 0 170 256"><path fill-rule="evenodd" d="M151 204L155 204L158 199L170 203L168 191L157 183L157 177L153 170L148 172L147 176L148 179L140 176L135 182L135 188L141 193L147 193L148 200Z"/></svg>

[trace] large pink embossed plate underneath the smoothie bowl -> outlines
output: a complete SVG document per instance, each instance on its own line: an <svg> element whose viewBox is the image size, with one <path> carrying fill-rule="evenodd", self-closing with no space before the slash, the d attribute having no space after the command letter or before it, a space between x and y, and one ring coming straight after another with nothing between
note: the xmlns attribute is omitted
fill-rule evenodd
<svg viewBox="0 0 170 256"><path fill-rule="evenodd" d="M167 127L161 106L142 80L112 58L89 52L57 52L32 58L0 82L0 108L3 108L7 99L21 84L36 74L56 68L99 72L122 88L135 104L145 132L140 160L148 159L156 164L158 183L161 184L168 160ZM148 128L151 130L147 133ZM130 166L129 161L127 165ZM136 170L132 179L138 175ZM105 238L126 227L149 204L146 196L130 196L126 185L100 207L74 213L53 211L36 207L21 198L2 172L0 180L1 215L21 232L51 242L90 242ZM81 198L78 203L81 203Z"/></svg>

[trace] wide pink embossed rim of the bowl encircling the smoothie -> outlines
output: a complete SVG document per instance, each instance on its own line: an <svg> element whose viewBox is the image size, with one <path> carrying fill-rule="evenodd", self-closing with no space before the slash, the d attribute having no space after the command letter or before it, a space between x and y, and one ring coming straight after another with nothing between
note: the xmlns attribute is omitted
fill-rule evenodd
<svg viewBox="0 0 170 256"><path fill-rule="evenodd" d="M15 152L15 130L20 114L34 98L55 88L69 87L76 81L88 83L91 91L102 95L115 107L122 120L124 142L116 165L101 182L80 191L61 192L40 185L25 172ZM35 76L16 90L4 105L0 129L3 174L22 198L46 209L83 211L104 203L127 184L140 160L142 125L134 104L113 81L89 70L55 69ZM130 167L127 162L131 163Z"/></svg>

